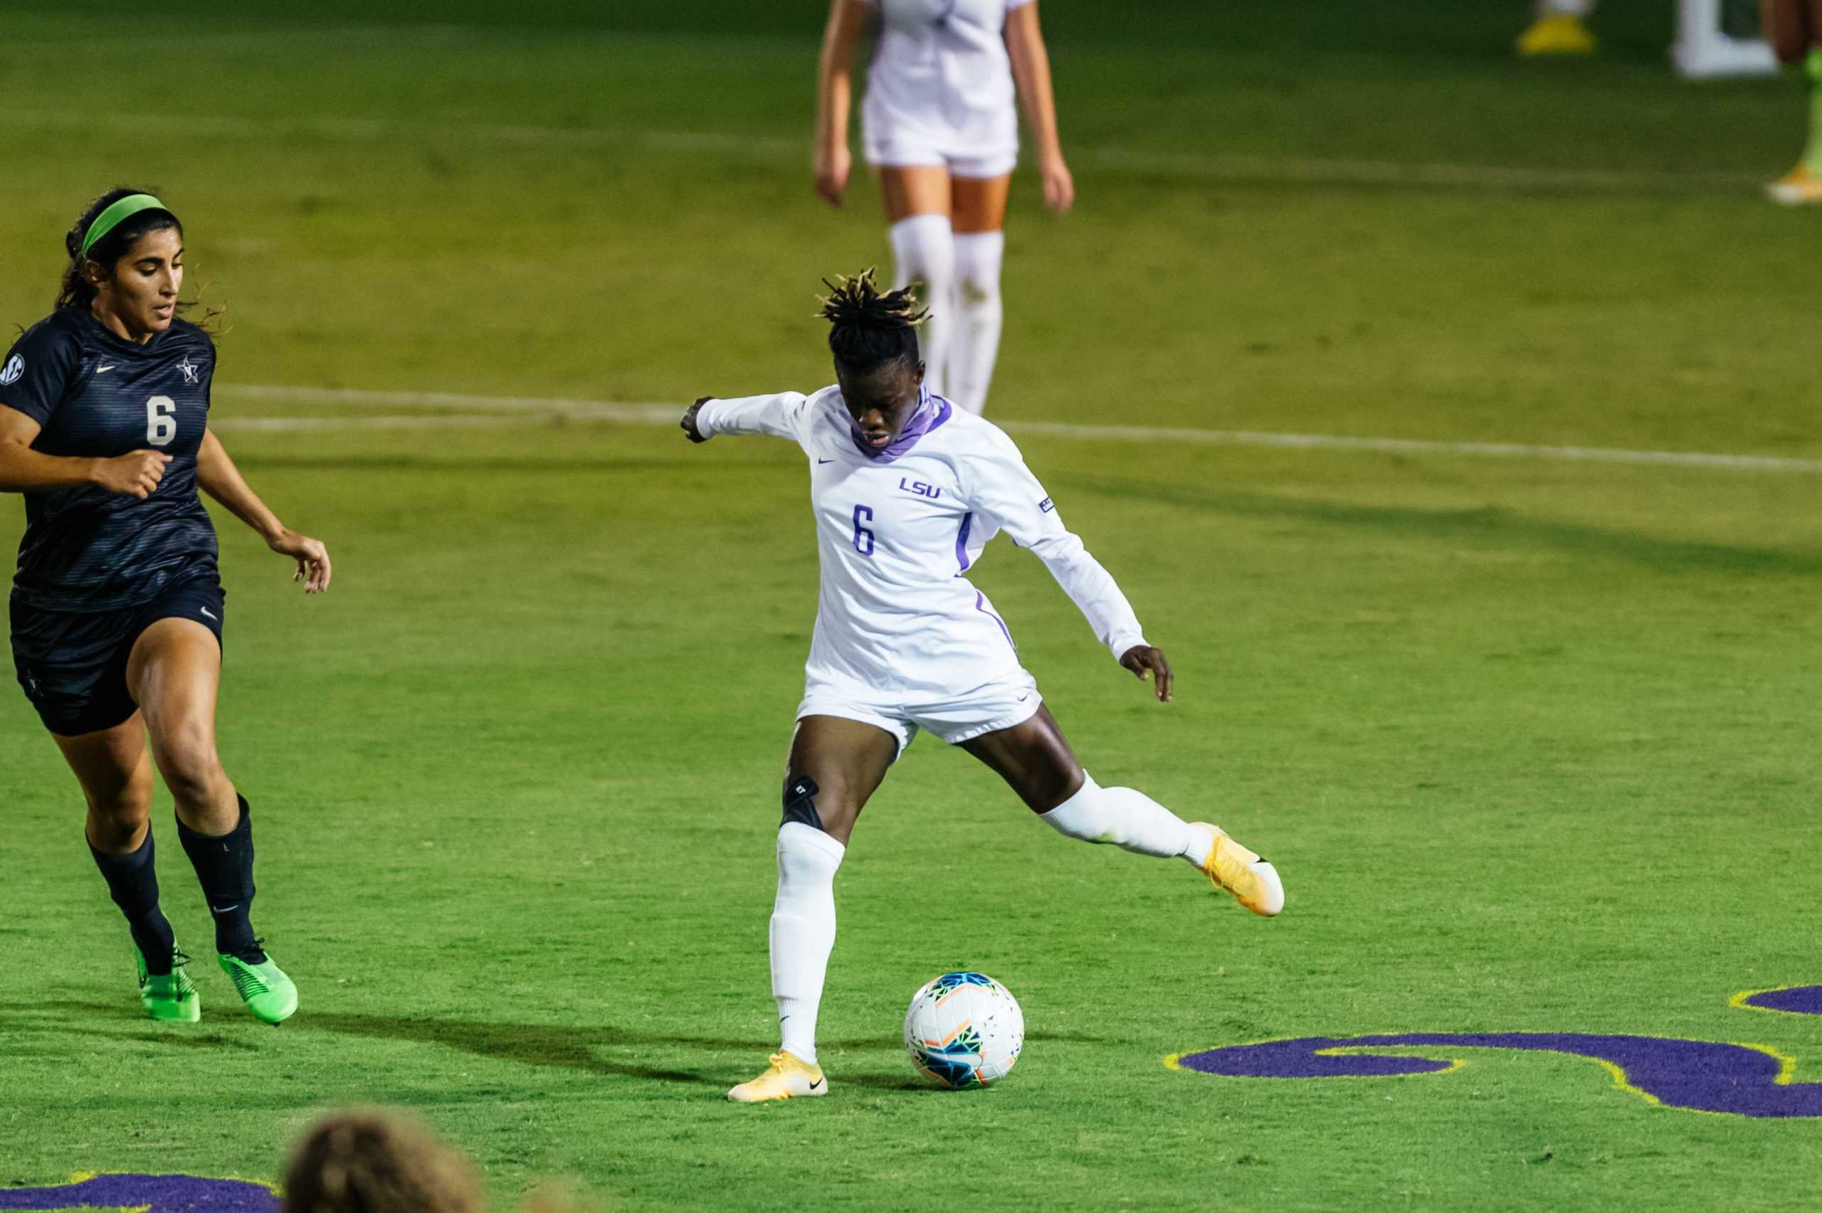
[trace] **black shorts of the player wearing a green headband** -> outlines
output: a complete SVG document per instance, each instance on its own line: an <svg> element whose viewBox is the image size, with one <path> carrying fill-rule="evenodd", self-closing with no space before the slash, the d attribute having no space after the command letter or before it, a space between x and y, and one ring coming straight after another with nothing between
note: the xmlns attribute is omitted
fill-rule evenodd
<svg viewBox="0 0 1822 1213"><path fill-rule="evenodd" d="M222 639L228 614L211 570L168 585L159 597L120 610L44 610L13 599L13 668L51 732L80 738L113 729L138 710L126 687L133 641L159 619L195 619Z"/></svg>

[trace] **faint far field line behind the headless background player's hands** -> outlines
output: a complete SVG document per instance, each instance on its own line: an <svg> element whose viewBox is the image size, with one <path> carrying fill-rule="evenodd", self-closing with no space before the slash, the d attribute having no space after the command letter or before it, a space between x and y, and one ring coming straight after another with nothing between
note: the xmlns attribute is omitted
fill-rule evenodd
<svg viewBox="0 0 1822 1213"><path fill-rule="evenodd" d="M587 126L532 126L510 122L406 122L390 118L250 118L233 115L140 115L13 109L7 122L49 129L180 129L188 137L304 135L341 142L437 138L532 148L650 148L691 151L736 160L807 164L807 140L727 131L614 129ZM1150 173L1188 180L1290 182L1312 186L1447 186L1467 189L1565 191L1676 191L1756 188L1751 173L1616 173L1572 168L1505 168L1498 164L1418 164L1401 160L1345 160L1328 157L1237 157L1197 151L1142 151L1135 148L1071 148L1077 168Z"/></svg>

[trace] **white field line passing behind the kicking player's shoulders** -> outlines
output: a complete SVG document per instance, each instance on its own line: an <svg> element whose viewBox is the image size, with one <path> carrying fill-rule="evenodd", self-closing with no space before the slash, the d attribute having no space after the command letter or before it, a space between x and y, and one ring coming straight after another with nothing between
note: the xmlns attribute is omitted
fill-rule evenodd
<svg viewBox="0 0 1822 1213"><path fill-rule="evenodd" d="M215 384L220 397L288 401L297 404L379 404L392 408L459 408L456 415L381 413L350 417L222 417L211 428L253 430L435 430L452 426L521 424L525 415L574 421L618 421L672 426L680 403L627 404L539 395L466 395L459 392L363 392L359 388L302 388L284 384ZM1425 439L1350 437L1341 433L1272 433L1263 430L1190 430L1168 426L1090 426L1059 421L1002 421L1013 433L1086 439L1091 443L1157 443L1179 446L1270 446L1279 450L1341 450L1381 455L1470 455L1492 459L1549 459L1556 463L1622 463L1729 472L1822 474L1822 459L1727 455L1694 450L1625 450L1616 446L1534 446L1529 443L1436 443Z"/></svg>

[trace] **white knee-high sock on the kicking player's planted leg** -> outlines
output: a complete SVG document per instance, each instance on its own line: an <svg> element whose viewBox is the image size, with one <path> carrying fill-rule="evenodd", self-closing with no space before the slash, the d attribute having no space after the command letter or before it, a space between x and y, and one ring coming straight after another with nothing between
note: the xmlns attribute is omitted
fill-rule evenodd
<svg viewBox="0 0 1822 1213"><path fill-rule="evenodd" d="M802 821L778 827L778 900L773 903L773 998L787 1053L816 1064L816 1007L834 951L834 869L847 847Z"/></svg>

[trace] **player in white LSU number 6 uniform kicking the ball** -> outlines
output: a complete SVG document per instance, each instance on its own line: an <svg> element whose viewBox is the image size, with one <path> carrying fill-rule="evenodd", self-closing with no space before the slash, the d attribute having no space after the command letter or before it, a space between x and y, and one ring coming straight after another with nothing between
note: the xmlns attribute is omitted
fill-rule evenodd
<svg viewBox="0 0 1822 1213"><path fill-rule="evenodd" d="M927 729L997 770L1070 838L1179 858L1272 916L1285 887L1221 829L1184 821L1130 787L1100 787L1075 759L1018 663L993 603L966 574L995 532L1029 548L1113 657L1170 699L1170 663L1146 643L1126 596L1082 548L997 426L929 392L922 313L873 271L824 302L836 384L696 401L683 432L767 433L804 448L822 563L816 632L783 785L778 900L771 918L780 1051L731 1100L825 1095L816 1007L834 947L834 871L887 767Z"/></svg>

